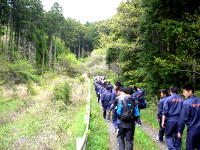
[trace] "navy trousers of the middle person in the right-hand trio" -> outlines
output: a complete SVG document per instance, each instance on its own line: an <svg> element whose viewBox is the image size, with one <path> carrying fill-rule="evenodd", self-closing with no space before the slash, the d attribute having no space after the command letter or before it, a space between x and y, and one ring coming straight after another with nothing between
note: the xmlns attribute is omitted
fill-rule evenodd
<svg viewBox="0 0 200 150"><path fill-rule="evenodd" d="M166 144L169 150L181 150L181 139L177 136L178 121L167 121L165 128Z"/></svg>

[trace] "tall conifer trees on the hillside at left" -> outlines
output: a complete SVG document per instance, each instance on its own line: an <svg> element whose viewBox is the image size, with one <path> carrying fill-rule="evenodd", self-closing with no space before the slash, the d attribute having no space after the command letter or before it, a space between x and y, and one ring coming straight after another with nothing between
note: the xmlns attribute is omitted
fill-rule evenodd
<svg viewBox="0 0 200 150"><path fill-rule="evenodd" d="M46 12L41 0L1 0L0 76L13 70L27 74L27 68L22 69L25 64L38 73L55 70L63 64L60 59L69 58L63 55L74 60L71 53L77 58L88 56L97 43L96 30L95 23L66 19L57 2ZM13 69L13 64L18 67ZM8 78L16 77L15 71Z"/></svg>

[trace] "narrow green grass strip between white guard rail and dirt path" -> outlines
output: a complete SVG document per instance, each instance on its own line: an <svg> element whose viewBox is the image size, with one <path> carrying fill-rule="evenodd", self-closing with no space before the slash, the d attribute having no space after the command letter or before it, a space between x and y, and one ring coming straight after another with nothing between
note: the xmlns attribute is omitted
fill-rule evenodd
<svg viewBox="0 0 200 150"><path fill-rule="evenodd" d="M91 116L90 132L87 141L87 150L108 150L109 133L106 123L102 117L102 111L97 103L96 94L93 86L91 87Z"/></svg>

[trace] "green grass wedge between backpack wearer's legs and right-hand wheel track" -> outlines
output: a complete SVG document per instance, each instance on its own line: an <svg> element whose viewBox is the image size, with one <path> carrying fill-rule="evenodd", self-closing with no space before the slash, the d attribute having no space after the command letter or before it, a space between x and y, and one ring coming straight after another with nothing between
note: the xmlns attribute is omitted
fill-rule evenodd
<svg viewBox="0 0 200 150"><path fill-rule="evenodd" d="M135 128L134 148L136 150L159 150L153 139L140 127Z"/></svg>

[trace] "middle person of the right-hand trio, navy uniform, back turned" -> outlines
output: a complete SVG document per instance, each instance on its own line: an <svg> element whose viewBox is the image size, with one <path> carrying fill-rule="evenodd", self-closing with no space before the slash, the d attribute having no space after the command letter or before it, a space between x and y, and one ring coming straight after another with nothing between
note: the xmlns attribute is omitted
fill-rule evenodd
<svg viewBox="0 0 200 150"><path fill-rule="evenodd" d="M178 138L178 120L184 99L179 96L177 87L170 87L170 95L164 102L162 127L165 128L166 144L169 150L180 150L181 139ZM166 124L165 124L166 122Z"/></svg>

